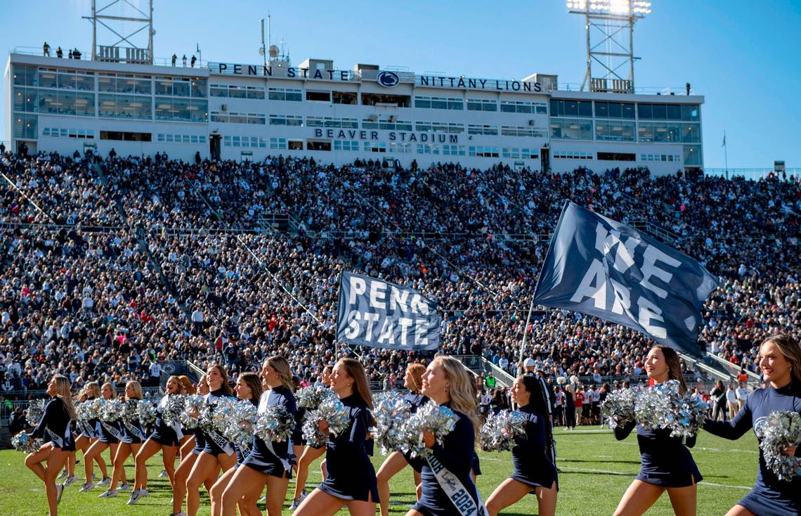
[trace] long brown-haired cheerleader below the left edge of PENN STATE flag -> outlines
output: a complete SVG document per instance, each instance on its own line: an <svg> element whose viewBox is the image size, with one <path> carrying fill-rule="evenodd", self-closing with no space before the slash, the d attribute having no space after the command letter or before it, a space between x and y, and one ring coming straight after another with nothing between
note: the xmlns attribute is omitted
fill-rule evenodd
<svg viewBox="0 0 801 516"><path fill-rule="evenodd" d="M328 476L300 502L295 516L332 516L346 505L350 514L374 516L376 470L364 448L372 424L372 394L364 368L352 358L340 358L331 375L331 389L348 410L350 425L338 436L329 433L325 451ZM325 421L320 421L319 427L328 433Z"/></svg>

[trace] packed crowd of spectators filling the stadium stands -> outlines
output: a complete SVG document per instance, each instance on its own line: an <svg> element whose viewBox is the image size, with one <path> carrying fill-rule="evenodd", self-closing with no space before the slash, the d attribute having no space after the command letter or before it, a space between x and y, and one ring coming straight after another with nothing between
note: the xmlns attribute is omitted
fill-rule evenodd
<svg viewBox="0 0 801 516"><path fill-rule="evenodd" d="M223 361L241 371L272 353L316 378L336 359L332 326L345 269L437 300L445 352L480 354L517 373L547 234L566 199L675 232L674 245L722 277L699 333L711 353L754 371L763 338L801 327L797 181L378 161L332 167L283 157L100 164L96 171L79 155L0 159L14 182L0 186L6 392L41 387L55 370L77 385L98 368L116 385L151 385L161 361ZM273 231L263 218L273 213L292 216L300 232ZM182 231L167 231L175 228ZM553 378L637 376L649 349L639 333L562 311L537 312L526 341L523 355ZM338 351L362 355L370 378L390 384L408 361L427 358Z"/></svg>

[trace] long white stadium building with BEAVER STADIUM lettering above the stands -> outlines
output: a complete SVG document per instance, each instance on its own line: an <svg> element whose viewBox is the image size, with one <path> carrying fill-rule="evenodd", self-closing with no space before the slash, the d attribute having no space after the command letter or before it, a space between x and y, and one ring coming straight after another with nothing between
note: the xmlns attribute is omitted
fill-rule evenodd
<svg viewBox="0 0 801 516"><path fill-rule="evenodd" d="M386 159L423 167L508 163L535 170L703 166L698 95L558 89L522 80L416 75L327 59L157 67L10 54L12 148L175 159L302 155L318 163Z"/></svg>

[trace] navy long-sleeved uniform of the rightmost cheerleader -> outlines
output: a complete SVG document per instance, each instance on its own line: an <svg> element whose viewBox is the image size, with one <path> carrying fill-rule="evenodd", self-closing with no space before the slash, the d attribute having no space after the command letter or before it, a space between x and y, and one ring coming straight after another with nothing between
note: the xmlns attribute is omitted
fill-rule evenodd
<svg viewBox="0 0 801 516"><path fill-rule="evenodd" d="M728 422L707 419L703 429L719 437L739 439L753 428L759 439L759 425L776 411L801 413L801 385L756 389L734 419ZM795 456L801 456L801 447L795 449ZM797 516L801 514L801 476L796 475L789 482L779 480L765 465L760 448L756 485L737 505L759 516Z"/></svg>

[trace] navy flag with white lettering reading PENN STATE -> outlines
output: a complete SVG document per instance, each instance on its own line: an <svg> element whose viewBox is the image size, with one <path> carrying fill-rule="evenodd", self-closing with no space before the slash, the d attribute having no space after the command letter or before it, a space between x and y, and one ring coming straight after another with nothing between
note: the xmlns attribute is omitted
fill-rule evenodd
<svg viewBox="0 0 801 516"><path fill-rule="evenodd" d="M336 340L373 348L419 351L440 346L437 303L412 288L342 272Z"/></svg>

